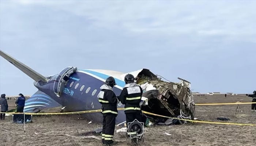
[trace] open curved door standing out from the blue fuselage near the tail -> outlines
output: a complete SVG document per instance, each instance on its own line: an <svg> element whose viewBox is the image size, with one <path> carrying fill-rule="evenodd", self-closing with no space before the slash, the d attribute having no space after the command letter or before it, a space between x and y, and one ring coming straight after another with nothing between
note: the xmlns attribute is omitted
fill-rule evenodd
<svg viewBox="0 0 256 146"><path fill-rule="evenodd" d="M77 70L77 68L74 67L67 67L64 68L58 76L55 78L55 82L53 85L53 91L54 93L60 97L61 91L63 91L63 88L65 86L65 83L68 81L69 76L74 73Z"/></svg>

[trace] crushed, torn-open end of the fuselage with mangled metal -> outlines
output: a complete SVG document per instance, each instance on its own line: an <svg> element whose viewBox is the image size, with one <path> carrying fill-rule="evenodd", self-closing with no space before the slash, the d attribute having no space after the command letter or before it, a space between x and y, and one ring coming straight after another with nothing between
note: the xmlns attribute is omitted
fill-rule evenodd
<svg viewBox="0 0 256 146"><path fill-rule="evenodd" d="M142 106L143 111L179 118L192 119L195 116L195 103L190 90L190 82L178 78L181 82L166 82L161 80L149 70L142 70L136 76L136 83L144 90L143 97L148 98L148 104ZM184 124L185 121L161 118L144 114L153 123Z"/></svg>

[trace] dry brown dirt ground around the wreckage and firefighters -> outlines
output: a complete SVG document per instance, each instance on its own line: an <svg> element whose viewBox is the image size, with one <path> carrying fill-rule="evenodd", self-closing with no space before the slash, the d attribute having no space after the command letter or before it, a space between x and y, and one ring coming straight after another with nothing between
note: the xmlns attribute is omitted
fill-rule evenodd
<svg viewBox="0 0 256 146"><path fill-rule="evenodd" d="M195 103L251 102L246 96L195 96ZM8 100L14 104L15 100ZM13 107L10 107L10 109ZM251 104L196 106L195 118L206 121L256 124L256 112L251 112ZM241 112L242 111L242 112ZM218 117L230 121L219 121ZM74 138L57 134L82 135L84 132L100 128L101 124L78 119L78 115L33 116L33 123L24 125L11 123L11 116L0 121L0 145L3 146L95 146L101 141L93 138ZM7 131L6 131L7 130ZM37 134L35 134L35 132ZM168 133L168 135L164 133ZM115 133L118 146L129 145L125 133ZM101 138L98 136L98 138ZM252 146L256 141L256 126L235 126L222 124L190 123L185 125L147 127L144 134L145 146Z"/></svg>

